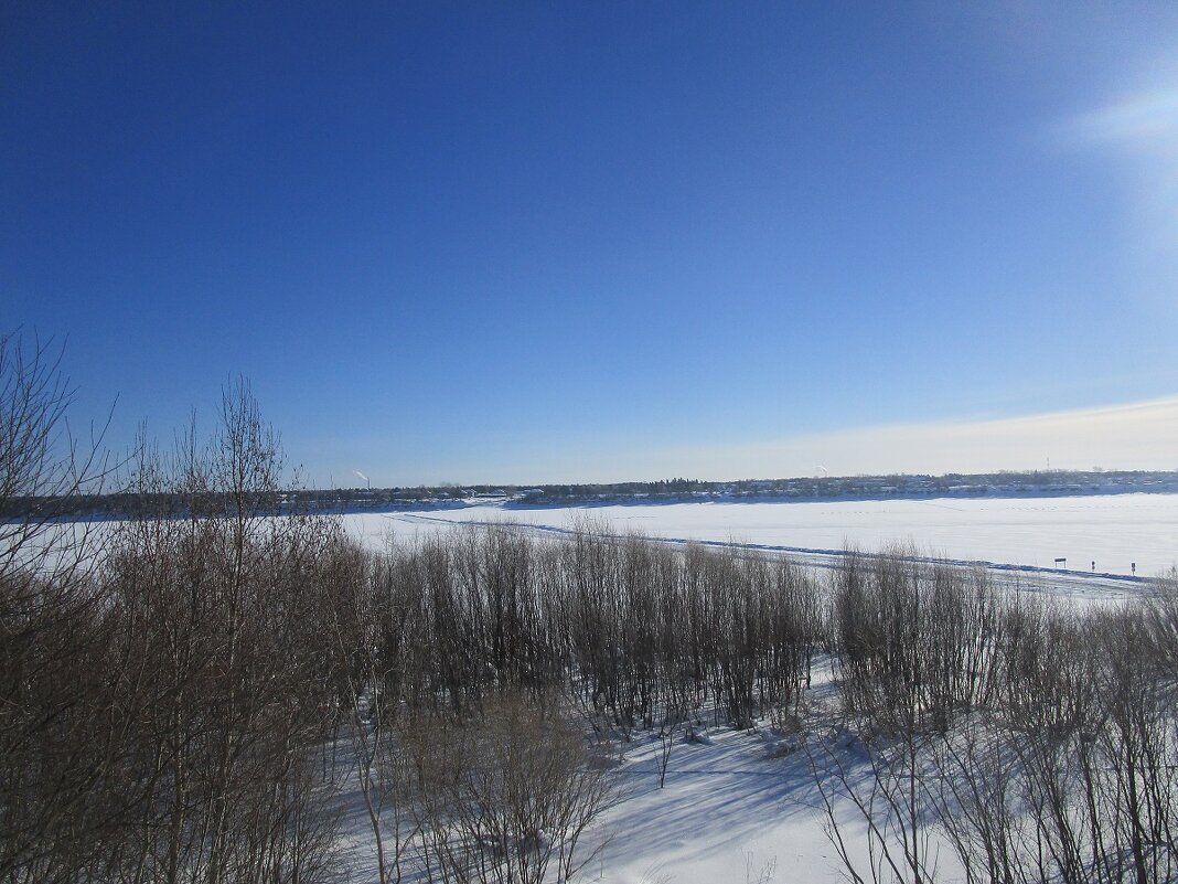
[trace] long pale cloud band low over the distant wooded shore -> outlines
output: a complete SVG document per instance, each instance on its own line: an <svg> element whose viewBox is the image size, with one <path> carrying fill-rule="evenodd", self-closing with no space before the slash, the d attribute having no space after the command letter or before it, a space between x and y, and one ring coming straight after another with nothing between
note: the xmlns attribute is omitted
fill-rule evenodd
<svg viewBox="0 0 1178 884"><path fill-rule="evenodd" d="M1169 470L1178 469L1178 396L1023 417L861 427L732 446L648 448L611 440L575 448L538 447L522 460L487 455L490 453L477 464L419 457L382 471L373 484L941 475L1043 470L1048 466Z"/></svg>

